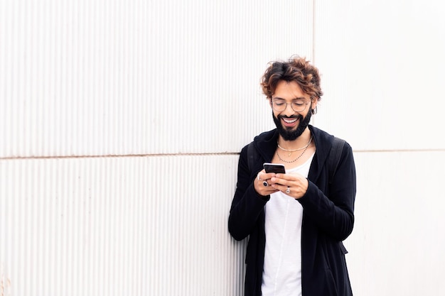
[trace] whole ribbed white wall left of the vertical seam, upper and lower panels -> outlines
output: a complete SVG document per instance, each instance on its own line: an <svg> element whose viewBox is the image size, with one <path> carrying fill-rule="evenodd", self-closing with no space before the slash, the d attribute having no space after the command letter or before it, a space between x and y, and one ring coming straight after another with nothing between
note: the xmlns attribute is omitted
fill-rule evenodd
<svg viewBox="0 0 445 296"><path fill-rule="evenodd" d="M272 128L259 77L311 55L312 15L0 1L0 295L242 295L224 153Z"/></svg>

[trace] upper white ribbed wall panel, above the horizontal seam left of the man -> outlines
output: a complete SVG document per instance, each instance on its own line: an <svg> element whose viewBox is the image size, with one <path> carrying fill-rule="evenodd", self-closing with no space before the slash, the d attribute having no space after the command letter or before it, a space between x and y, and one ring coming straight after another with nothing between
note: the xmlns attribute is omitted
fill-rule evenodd
<svg viewBox="0 0 445 296"><path fill-rule="evenodd" d="M5 157L238 152L272 127L259 89L267 62L312 52L309 0L1 1L0 11Z"/></svg>

